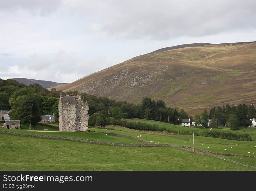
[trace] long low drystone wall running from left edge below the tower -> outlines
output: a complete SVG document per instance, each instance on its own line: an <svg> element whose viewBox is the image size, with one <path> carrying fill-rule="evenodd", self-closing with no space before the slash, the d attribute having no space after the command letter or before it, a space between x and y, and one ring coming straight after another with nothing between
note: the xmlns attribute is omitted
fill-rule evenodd
<svg viewBox="0 0 256 191"><path fill-rule="evenodd" d="M107 142L107 141L98 141L98 140L90 140L90 139L81 139L81 138L72 138L72 137L59 137L53 135L39 135L39 134L29 134L29 133L18 133L13 131L1 131L0 133L12 134L12 135L21 135L28 137L37 137L37 138L47 138L47 139L56 139L56 140L69 140L69 141L78 141L78 142L88 142L95 144L104 144L111 146L125 146L125 147L170 147L169 144L136 144L136 143L119 143L119 142Z"/></svg>

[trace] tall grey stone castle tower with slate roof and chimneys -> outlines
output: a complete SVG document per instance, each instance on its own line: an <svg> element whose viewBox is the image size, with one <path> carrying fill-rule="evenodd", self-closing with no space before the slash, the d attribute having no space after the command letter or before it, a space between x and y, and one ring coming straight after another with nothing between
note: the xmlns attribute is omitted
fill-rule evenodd
<svg viewBox="0 0 256 191"><path fill-rule="evenodd" d="M89 104L83 101L81 94L73 96L60 94L59 131L88 131Z"/></svg>

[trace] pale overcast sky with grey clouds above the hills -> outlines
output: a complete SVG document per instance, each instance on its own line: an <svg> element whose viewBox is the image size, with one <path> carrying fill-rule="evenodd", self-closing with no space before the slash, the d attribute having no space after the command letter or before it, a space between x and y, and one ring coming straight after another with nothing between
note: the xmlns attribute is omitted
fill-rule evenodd
<svg viewBox="0 0 256 191"><path fill-rule="evenodd" d="M73 82L163 47L256 41L255 0L1 0L0 78Z"/></svg>

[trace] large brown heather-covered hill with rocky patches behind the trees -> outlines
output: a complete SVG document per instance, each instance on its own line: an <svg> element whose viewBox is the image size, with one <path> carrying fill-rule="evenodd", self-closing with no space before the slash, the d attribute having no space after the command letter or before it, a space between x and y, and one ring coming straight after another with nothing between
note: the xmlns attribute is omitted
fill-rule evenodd
<svg viewBox="0 0 256 191"><path fill-rule="evenodd" d="M190 114L226 103L256 102L256 42L196 43L159 49L57 90L139 103L143 96Z"/></svg>

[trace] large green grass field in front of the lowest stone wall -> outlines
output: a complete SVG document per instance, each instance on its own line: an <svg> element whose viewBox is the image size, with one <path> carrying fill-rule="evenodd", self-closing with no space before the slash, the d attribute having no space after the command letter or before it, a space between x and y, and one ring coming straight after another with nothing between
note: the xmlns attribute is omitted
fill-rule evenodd
<svg viewBox="0 0 256 191"><path fill-rule="evenodd" d="M134 148L0 134L0 170L253 170L170 147Z"/></svg>

